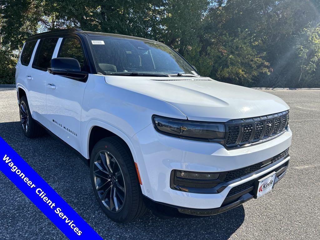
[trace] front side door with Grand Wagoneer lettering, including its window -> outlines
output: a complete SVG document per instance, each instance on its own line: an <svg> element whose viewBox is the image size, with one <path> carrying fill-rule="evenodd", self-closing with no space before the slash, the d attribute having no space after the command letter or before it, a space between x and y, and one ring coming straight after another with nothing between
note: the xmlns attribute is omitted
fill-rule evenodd
<svg viewBox="0 0 320 240"><path fill-rule="evenodd" d="M88 71L80 39L67 37L60 39L59 42L61 44L59 49L56 50L55 57L75 58L79 61L81 70ZM60 139L81 152L81 111L84 89L87 82L74 80L65 76L49 75L46 95L46 116L50 122L49 129Z"/></svg>

